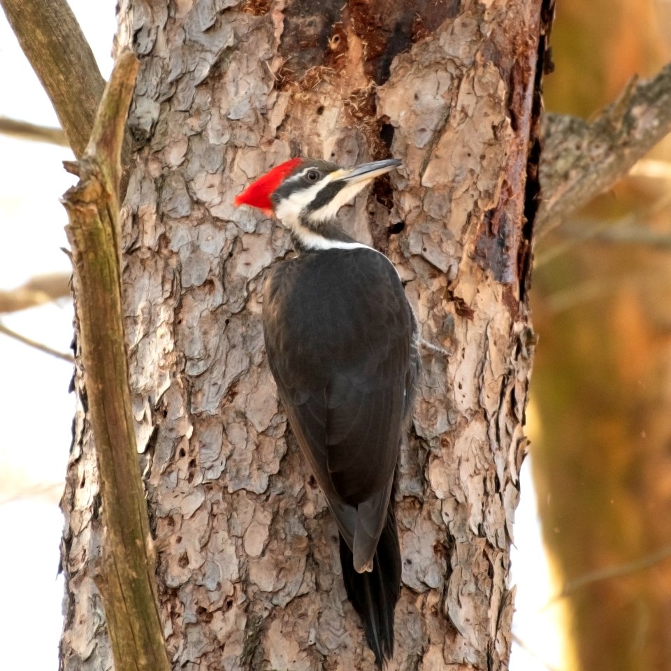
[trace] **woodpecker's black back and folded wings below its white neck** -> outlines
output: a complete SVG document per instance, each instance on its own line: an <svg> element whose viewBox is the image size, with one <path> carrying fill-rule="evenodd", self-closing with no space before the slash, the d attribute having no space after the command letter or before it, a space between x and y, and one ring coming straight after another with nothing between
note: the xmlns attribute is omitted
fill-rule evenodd
<svg viewBox="0 0 671 671"><path fill-rule="evenodd" d="M270 275L264 333L291 428L364 567L387 519L414 377L401 280L375 250L303 254Z"/></svg>

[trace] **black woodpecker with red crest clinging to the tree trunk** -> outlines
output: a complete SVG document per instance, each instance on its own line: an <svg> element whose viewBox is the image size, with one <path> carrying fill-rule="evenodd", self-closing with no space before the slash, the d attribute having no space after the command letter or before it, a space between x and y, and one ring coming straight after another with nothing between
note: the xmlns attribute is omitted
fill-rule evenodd
<svg viewBox="0 0 671 671"><path fill-rule="evenodd" d="M280 219L298 252L266 284L268 363L338 524L347 596L379 666L394 654L401 589L394 472L419 368L417 326L391 261L347 236L334 218L400 164L344 169L291 159L235 201Z"/></svg>

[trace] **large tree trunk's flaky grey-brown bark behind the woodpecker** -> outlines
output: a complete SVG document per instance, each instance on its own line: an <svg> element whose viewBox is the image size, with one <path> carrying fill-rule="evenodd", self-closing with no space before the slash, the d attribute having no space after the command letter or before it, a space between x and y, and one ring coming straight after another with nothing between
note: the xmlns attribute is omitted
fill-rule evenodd
<svg viewBox="0 0 671 671"><path fill-rule="evenodd" d="M173 668L369 670L336 528L264 361L266 269L290 250L233 197L300 153L404 167L343 208L394 260L427 349L402 446L390 669L504 669L537 207L541 0L125 0L141 68L124 314ZM109 668L92 570L85 399L68 466L62 668Z"/></svg>

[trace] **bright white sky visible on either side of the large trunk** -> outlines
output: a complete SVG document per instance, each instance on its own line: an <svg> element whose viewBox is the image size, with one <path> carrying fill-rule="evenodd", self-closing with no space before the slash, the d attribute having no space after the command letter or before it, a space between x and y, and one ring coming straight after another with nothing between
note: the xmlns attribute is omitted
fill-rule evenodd
<svg viewBox="0 0 671 671"><path fill-rule="evenodd" d="M112 60L115 0L69 0L92 46L103 77ZM57 126L40 82L0 13L0 115ZM59 198L75 178L62 168L64 147L0 135L0 288L30 277L68 272L67 217ZM69 301L3 315L10 329L67 352L72 339ZM2 666L56 669L62 627L63 580L57 578L62 515L58 500L71 442L72 366L0 334L0 607ZM563 668L555 609L527 459L517 512L513 579L517 582L514 632L535 656L514 646L512 671ZM36 635L37 634L37 635ZM32 671L32 669L27 669Z"/></svg>

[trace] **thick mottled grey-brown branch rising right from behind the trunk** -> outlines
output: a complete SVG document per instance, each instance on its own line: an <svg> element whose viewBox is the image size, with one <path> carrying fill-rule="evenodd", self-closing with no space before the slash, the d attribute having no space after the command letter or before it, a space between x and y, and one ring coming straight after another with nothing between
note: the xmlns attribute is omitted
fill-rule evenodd
<svg viewBox="0 0 671 671"><path fill-rule="evenodd" d="M630 82L593 122L547 115L538 236L611 187L669 132L671 64L651 80Z"/></svg>

